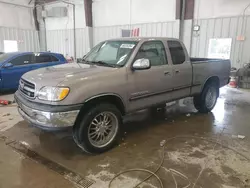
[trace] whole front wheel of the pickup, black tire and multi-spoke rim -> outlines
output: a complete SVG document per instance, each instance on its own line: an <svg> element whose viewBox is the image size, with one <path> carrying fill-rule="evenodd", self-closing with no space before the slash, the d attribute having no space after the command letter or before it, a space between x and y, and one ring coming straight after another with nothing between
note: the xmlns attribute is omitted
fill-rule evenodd
<svg viewBox="0 0 250 188"><path fill-rule="evenodd" d="M77 145L87 153L111 149L119 138L122 118L112 104L100 104L88 110L74 130Z"/></svg>

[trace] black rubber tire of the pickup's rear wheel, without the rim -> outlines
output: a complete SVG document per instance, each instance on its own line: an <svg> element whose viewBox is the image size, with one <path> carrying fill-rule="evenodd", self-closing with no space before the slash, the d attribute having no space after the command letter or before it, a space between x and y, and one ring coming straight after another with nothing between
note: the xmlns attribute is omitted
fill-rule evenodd
<svg viewBox="0 0 250 188"><path fill-rule="evenodd" d="M209 106L206 104L206 96L210 89L216 91L216 99L213 102L213 104ZM208 113L211 110L213 110L214 106L216 105L218 96L219 96L219 88L217 84L208 83L203 88L203 91L201 92L201 94L194 96L193 98L194 106L200 113Z"/></svg>

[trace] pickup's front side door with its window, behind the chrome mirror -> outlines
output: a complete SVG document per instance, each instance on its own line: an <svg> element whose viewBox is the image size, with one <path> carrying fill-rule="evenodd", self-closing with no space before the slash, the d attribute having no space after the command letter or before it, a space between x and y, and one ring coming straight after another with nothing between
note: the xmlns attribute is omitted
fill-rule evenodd
<svg viewBox="0 0 250 188"><path fill-rule="evenodd" d="M172 66L168 64L161 41L144 42L134 61L149 59L151 68L131 70L129 80L129 110L134 111L171 100Z"/></svg>

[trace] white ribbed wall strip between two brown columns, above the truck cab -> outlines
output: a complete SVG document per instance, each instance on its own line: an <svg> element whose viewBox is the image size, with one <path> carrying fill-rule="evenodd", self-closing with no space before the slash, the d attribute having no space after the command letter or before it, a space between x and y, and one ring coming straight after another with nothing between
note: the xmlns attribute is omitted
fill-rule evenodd
<svg viewBox="0 0 250 188"><path fill-rule="evenodd" d="M139 28L141 37L179 37L179 21L159 22L159 23L143 23L133 25L117 25L95 27L94 44L110 38L121 37L122 29Z"/></svg>

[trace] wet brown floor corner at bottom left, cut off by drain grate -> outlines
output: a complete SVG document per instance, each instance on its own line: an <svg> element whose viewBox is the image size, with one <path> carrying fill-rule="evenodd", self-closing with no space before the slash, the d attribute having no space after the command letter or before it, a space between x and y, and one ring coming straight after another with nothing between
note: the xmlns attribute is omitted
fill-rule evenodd
<svg viewBox="0 0 250 188"><path fill-rule="evenodd" d="M74 187L47 167L20 155L0 140L0 188Z"/></svg>

